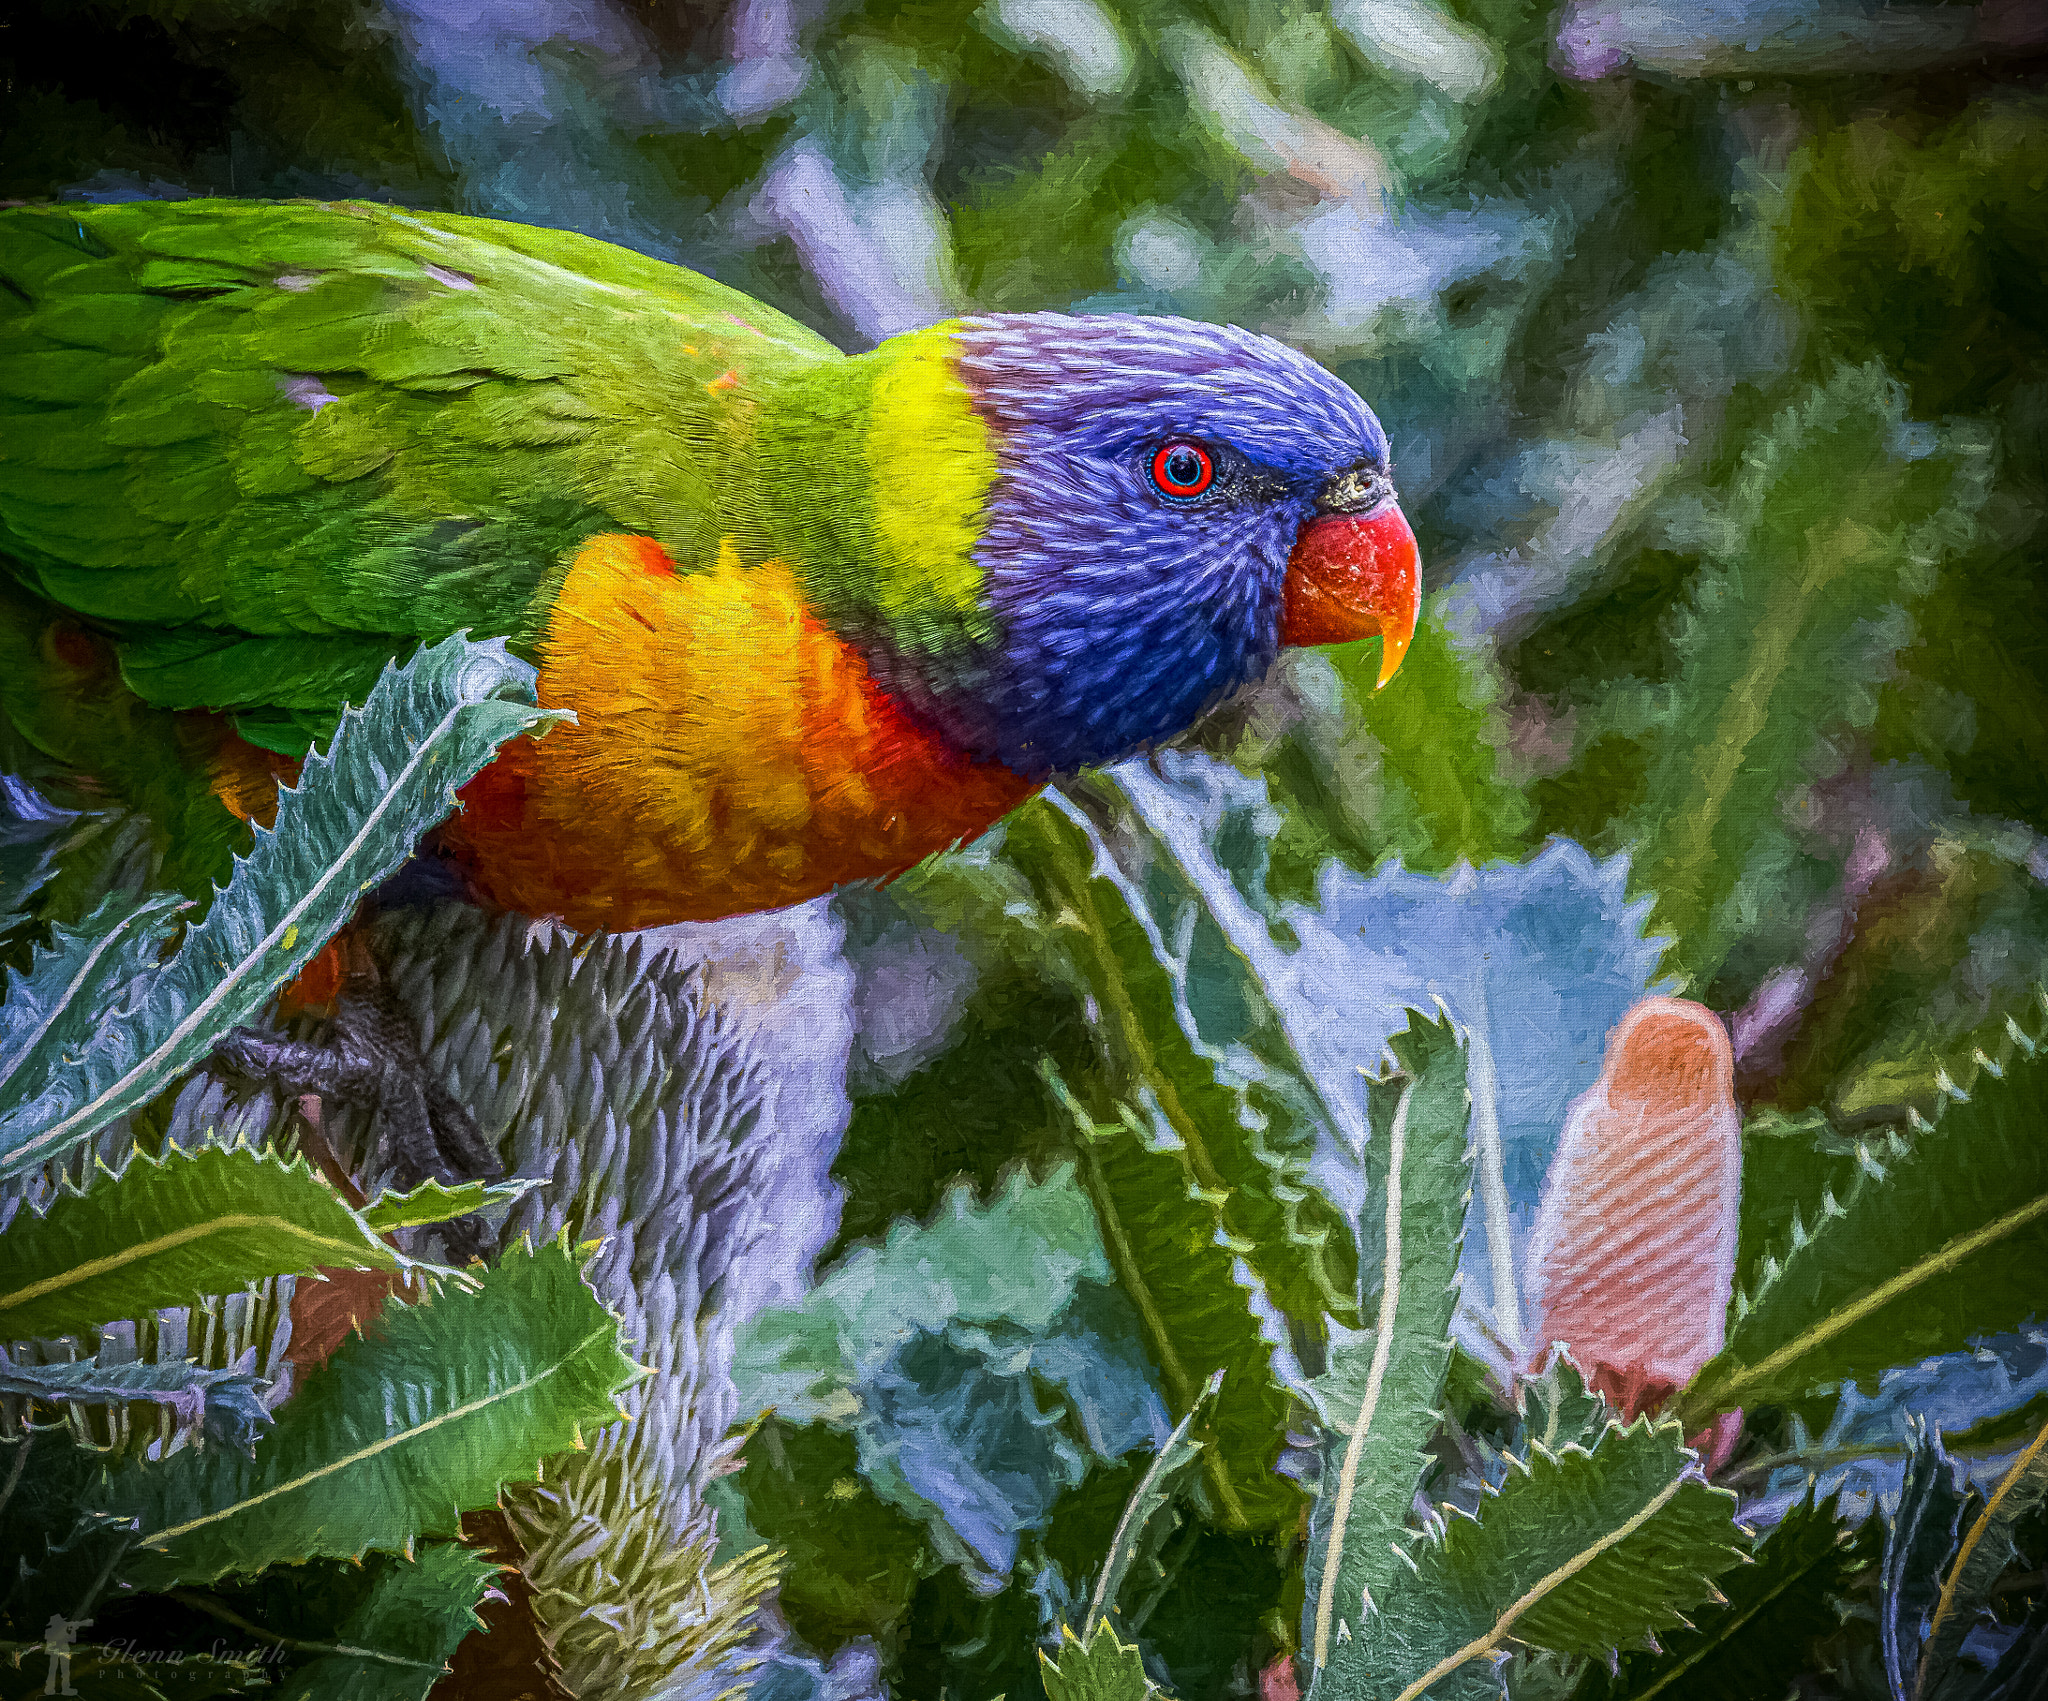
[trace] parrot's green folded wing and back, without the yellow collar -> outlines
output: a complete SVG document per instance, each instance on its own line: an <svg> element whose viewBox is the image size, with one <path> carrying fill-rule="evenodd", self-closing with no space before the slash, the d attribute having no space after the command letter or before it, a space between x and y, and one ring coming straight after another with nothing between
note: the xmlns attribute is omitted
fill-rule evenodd
<svg viewBox="0 0 2048 1701"><path fill-rule="evenodd" d="M758 385L836 358L707 278L371 205L0 213L0 565L160 708L303 753L393 655L530 645L565 553L717 549Z"/></svg>

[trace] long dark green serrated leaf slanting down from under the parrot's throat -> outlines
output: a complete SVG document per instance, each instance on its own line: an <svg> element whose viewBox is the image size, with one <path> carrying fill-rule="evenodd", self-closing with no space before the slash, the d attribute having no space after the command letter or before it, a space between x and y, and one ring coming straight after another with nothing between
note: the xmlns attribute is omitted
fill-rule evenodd
<svg viewBox="0 0 2048 1701"><path fill-rule="evenodd" d="M1126 831L1145 831L1110 780L1077 796L1114 811ZM1350 1314L1346 1224L1307 1175L1317 1093L1278 1021L1268 1013L1260 1023L1278 1083L1255 1083L1223 1064L1196 1032L1182 954L1073 800L1049 792L1018 811L1004 852L1067 946L1079 991L1100 1011L1094 1026L1110 1091L1143 1114L1157 1138L1180 1144L1190 1177L1214 1200L1223 1232L1280 1310L1300 1320L1325 1310ZM1200 897L1174 860L1159 858L1155 876L1174 882L1169 909L1192 921ZM1239 997L1264 1007L1249 964L1231 956L1229 966Z"/></svg>

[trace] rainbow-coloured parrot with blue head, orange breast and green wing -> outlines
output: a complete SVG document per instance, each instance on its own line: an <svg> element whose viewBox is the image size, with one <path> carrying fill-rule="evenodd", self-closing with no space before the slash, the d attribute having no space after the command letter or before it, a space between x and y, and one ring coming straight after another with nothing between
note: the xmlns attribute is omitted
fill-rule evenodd
<svg viewBox="0 0 2048 1701"><path fill-rule="evenodd" d="M1376 639L1384 684L1419 612L1380 422L1276 340L985 313L846 354L455 213L4 209L0 420L0 755L141 811L195 895L453 633L573 721L426 854L592 933L893 878L1284 647Z"/></svg>

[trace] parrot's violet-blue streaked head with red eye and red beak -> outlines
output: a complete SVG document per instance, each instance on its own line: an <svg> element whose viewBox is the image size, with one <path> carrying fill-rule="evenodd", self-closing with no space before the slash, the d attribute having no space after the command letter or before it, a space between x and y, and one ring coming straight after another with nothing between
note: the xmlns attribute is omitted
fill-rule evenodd
<svg viewBox="0 0 2048 1701"><path fill-rule="evenodd" d="M1335 377L1188 319L946 330L995 450L975 544L987 635L883 669L952 743L1028 776L1069 772L1182 733L1282 643L1384 633L1399 659L1413 536L1386 436ZM1405 563L1362 559L1356 522L1380 528L1382 555L1397 528ZM1401 569L1395 608L1380 581Z"/></svg>

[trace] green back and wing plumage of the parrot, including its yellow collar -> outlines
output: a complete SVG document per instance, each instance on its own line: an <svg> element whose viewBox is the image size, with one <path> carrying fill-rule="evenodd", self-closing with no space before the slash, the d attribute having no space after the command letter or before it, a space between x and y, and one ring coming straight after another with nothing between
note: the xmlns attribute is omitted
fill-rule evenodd
<svg viewBox="0 0 2048 1701"><path fill-rule="evenodd" d="M422 643L535 657L602 532L682 571L725 544L786 561L848 637L950 665L991 637L971 542L995 475L956 391L944 332L848 360L561 231L369 205L4 209L0 710L188 845L203 890L246 839L207 788L229 725L303 755ZM49 690L59 614L119 655L100 700Z"/></svg>

